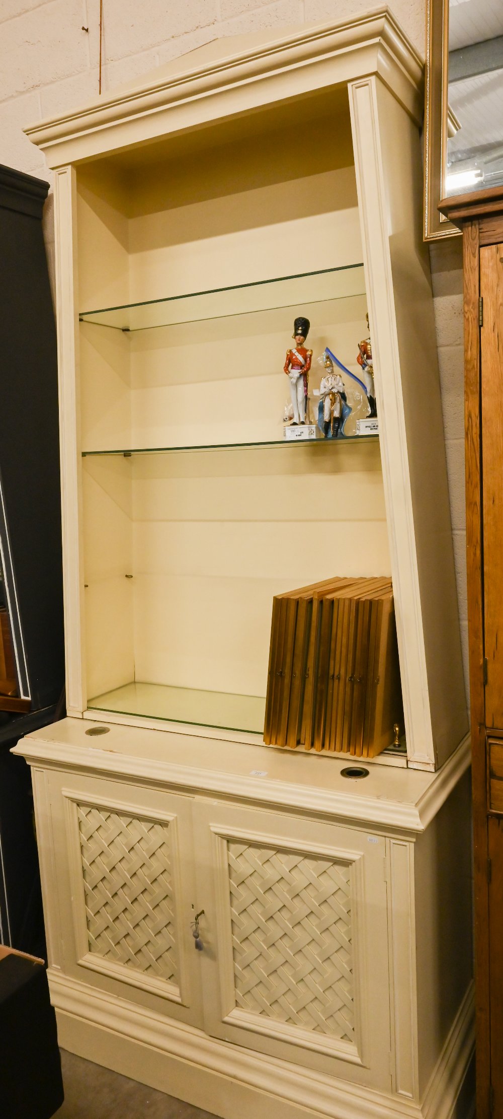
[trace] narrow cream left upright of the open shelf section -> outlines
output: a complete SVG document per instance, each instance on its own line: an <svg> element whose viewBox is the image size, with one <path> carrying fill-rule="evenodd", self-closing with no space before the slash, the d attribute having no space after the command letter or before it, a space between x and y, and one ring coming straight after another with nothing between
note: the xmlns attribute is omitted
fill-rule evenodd
<svg viewBox="0 0 503 1119"><path fill-rule="evenodd" d="M77 245L75 169L61 167L55 181L56 311L59 369L63 591L65 603L66 704L86 706L84 680L80 393L78 378Z"/></svg>

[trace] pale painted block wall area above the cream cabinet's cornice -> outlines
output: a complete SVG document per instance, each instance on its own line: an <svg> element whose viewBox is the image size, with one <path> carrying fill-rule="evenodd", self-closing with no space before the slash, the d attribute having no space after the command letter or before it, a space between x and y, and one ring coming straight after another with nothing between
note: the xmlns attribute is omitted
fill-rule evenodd
<svg viewBox="0 0 503 1119"><path fill-rule="evenodd" d="M103 88L219 36L344 19L372 7L376 0L104 0ZM393 0L392 10L424 54L425 0ZM3 163L47 175L21 128L96 96L98 27L99 0L0 0Z"/></svg>

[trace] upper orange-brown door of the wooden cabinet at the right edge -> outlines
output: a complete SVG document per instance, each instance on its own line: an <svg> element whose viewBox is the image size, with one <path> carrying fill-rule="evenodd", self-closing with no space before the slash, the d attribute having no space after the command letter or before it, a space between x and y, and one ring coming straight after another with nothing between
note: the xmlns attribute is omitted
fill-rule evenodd
<svg viewBox="0 0 503 1119"><path fill-rule="evenodd" d="M481 248L485 721L503 730L503 244Z"/></svg>

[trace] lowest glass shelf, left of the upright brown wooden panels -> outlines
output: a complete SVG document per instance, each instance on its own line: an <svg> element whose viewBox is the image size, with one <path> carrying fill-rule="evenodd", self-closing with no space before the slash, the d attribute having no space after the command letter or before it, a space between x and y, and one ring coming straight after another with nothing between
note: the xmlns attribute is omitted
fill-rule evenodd
<svg viewBox="0 0 503 1119"><path fill-rule="evenodd" d="M226 731L264 731L265 696L240 696L226 692L200 692L165 684L124 684L104 692L87 704L91 711L140 715L171 723L193 723Z"/></svg>

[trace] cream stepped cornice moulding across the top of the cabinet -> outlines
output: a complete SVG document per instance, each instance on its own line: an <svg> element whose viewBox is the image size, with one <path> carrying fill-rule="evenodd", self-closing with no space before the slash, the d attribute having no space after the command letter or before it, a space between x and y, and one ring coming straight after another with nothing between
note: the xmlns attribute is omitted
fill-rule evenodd
<svg viewBox="0 0 503 1119"><path fill-rule="evenodd" d="M231 37L220 41L222 50L231 50ZM354 54L359 55L358 63ZM150 79L146 78L141 85L111 91L75 112L37 122L25 132L34 143L47 150L50 166L57 167L75 159L91 158L124 143L134 143L136 138L129 134L125 140L121 130L121 125L131 126L133 121L141 125L142 139L153 139L180 126L175 119L168 123L162 111L205 102L205 113L201 114L201 106L198 110L200 120L190 123L186 121L181 124L182 128L205 123L205 117L211 120L225 115L221 96L216 95L236 93L239 87L239 106L235 104L234 112L246 112L250 107L243 96L243 87L250 85L254 86L254 104L266 104L286 94L285 90L281 90L278 94L277 79L288 79L292 72L296 73L297 95L348 82L363 74L379 73L411 115L418 116L421 111L423 59L387 7L335 25L301 28L295 34L278 37L263 46L255 45L235 55L224 55L202 66L196 64L192 69L182 68L183 58L187 65L188 56L182 56L168 67L162 67L162 77L154 70ZM314 72L316 67L317 74ZM268 88L272 79L274 92ZM260 82L263 85L257 100L257 83ZM293 91L290 91L290 95L294 95ZM210 98L216 98L216 103L209 104ZM149 123L145 117L150 117ZM172 112L171 117L174 117ZM110 135L111 129L115 129L113 139ZM96 137L96 133L102 132L107 137L105 143L104 137ZM92 137L94 143L89 143ZM87 138L87 143L83 145L84 138Z"/></svg>

